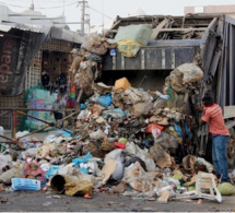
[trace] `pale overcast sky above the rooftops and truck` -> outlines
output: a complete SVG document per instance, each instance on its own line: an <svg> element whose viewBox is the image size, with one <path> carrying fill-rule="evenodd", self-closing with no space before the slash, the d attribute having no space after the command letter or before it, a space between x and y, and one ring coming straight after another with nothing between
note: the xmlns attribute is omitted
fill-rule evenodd
<svg viewBox="0 0 235 213"><path fill-rule="evenodd" d="M8 5L13 12L22 12L34 3L35 11L55 17L64 14L66 21L81 21L81 0L0 0L0 4ZM184 7L190 5L223 5L235 4L234 0L86 0L90 25L102 25L114 22L117 15L125 17L136 8L140 8L146 15L184 15ZM69 24L72 31L81 25Z"/></svg>

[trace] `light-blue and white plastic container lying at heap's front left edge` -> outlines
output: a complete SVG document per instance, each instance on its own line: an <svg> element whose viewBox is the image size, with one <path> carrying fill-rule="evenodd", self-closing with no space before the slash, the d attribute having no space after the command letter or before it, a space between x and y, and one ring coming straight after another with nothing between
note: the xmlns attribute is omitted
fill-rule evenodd
<svg viewBox="0 0 235 213"><path fill-rule="evenodd" d="M40 181L27 178L11 178L11 189L15 191L38 191L40 190Z"/></svg>

